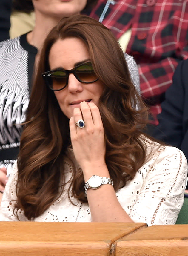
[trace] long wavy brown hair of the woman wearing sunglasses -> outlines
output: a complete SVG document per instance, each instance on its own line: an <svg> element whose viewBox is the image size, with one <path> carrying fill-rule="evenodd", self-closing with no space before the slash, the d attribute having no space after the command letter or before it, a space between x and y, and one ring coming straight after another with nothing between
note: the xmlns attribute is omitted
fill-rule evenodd
<svg viewBox="0 0 188 256"><path fill-rule="evenodd" d="M146 160L141 129L147 122L147 108L132 84L119 43L95 19L84 15L63 18L42 47L21 136L15 210L23 209L29 220L44 213L65 185L64 158L71 145L69 120L41 73L49 70L52 45L67 37L79 38L87 45L95 73L105 85L98 107L104 125L106 164L115 191L125 186ZM87 201L83 173L75 167L69 196Z"/></svg>

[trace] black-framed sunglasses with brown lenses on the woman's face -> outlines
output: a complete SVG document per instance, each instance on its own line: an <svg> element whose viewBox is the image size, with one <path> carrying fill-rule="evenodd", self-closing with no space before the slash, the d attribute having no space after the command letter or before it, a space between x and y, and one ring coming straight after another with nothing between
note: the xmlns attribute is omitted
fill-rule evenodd
<svg viewBox="0 0 188 256"><path fill-rule="evenodd" d="M80 64L71 70L50 70L42 73L42 76L51 90L60 91L67 86L70 73L73 73L79 82L85 84L90 84L98 80L91 62Z"/></svg>

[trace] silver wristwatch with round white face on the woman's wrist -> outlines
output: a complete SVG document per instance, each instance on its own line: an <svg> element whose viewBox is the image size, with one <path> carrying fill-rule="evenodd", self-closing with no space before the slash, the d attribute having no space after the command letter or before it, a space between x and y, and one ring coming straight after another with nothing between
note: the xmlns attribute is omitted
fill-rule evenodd
<svg viewBox="0 0 188 256"><path fill-rule="evenodd" d="M84 185L85 192L87 192L88 188L97 189L97 188L100 188L103 184L110 184L113 186L113 181L111 178L93 175L91 176L91 178L89 178L88 181L86 181Z"/></svg>

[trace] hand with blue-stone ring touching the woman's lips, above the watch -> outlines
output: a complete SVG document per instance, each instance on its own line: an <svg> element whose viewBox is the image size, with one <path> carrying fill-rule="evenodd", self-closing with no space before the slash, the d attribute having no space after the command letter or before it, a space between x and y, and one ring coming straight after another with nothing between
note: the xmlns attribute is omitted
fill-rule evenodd
<svg viewBox="0 0 188 256"><path fill-rule="evenodd" d="M105 164L104 128L98 107L93 103L81 102L80 108L74 109L74 116L70 118L70 138L75 158L83 172L90 166ZM84 128L75 123L83 119Z"/></svg>

